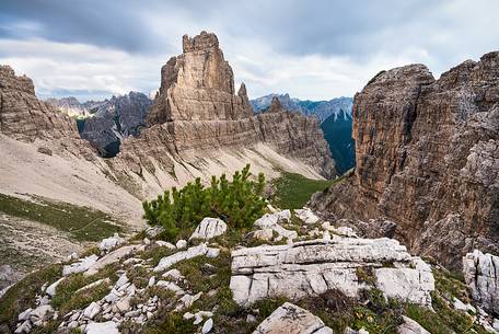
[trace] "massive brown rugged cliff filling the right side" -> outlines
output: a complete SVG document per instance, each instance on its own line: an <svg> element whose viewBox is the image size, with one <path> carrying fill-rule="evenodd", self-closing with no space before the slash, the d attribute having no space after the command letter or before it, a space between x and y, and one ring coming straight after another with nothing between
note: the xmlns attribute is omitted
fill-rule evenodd
<svg viewBox="0 0 499 334"><path fill-rule="evenodd" d="M355 97L356 171L315 196L336 218L386 217L409 250L450 268L499 252L499 53L434 80L422 65L381 72Z"/></svg>

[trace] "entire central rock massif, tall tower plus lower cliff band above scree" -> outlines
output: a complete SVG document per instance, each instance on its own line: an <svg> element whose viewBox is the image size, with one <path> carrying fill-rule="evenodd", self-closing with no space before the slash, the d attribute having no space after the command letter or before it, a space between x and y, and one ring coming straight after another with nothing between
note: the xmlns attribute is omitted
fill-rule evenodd
<svg viewBox="0 0 499 334"><path fill-rule="evenodd" d="M179 159L263 143L325 177L335 175L316 119L288 113L278 102L254 116L245 85L235 94L232 69L217 36L206 32L184 36L183 45L184 53L161 70L161 88L147 117L149 128L139 138L123 141L120 157L127 164L151 170L153 158L169 171Z"/></svg>

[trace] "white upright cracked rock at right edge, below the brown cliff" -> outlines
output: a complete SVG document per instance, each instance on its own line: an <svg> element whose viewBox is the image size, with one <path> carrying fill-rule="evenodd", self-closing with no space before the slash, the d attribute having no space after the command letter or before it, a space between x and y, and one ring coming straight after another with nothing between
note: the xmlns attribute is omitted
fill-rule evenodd
<svg viewBox="0 0 499 334"><path fill-rule="evenodd" d="M463 257L463 273L473 299L485 310L499 314L499 256L475 250Z"/></svg>

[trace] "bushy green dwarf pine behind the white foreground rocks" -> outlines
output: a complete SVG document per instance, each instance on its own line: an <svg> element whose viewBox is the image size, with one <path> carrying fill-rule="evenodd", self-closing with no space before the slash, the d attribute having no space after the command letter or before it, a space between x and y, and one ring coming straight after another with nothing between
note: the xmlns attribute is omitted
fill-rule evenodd
<svg viewBox="0 0 499 334"><path fill-rule="evenodd" d="M265 176L251 178L250 164L237 171L229 182L225 174L211 177L210 186L197 177L182 189L165 191L156 199L142 203L143 218L150 226L164 228L165 238L175 240L181 231L190 231L205 217L220 218L230 228L251 228L264 214L265 199L262 197Z"/></svg>

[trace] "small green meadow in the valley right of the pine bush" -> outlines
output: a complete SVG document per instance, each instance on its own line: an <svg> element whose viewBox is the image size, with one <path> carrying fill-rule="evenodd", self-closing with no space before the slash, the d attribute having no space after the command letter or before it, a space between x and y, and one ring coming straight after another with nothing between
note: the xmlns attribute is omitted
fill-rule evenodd
<svg viewBox="0 0 499 334"><path fill-rule="evenodd" d="M271 182L275 188L272 203L280 208L299 209L309 201L312 194L322 192L338 180L311 180L301 174L281 172Z"/></svg>

